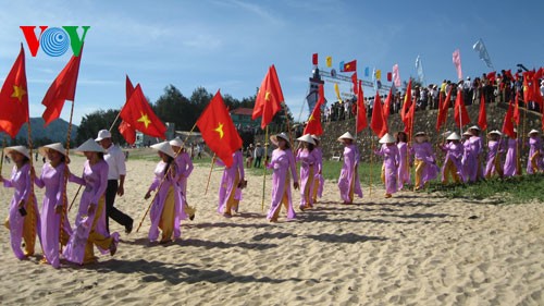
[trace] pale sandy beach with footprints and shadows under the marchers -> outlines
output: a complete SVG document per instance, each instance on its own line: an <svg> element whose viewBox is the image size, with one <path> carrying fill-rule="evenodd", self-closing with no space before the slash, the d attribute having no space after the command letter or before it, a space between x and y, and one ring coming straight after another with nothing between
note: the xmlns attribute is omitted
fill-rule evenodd
<svg viewBox="0 0 544 306"><path fill-rule="evenodd" d="M79 174L84 158L74 156ZM139 223L157 161L128 160L125 196L116 207ZM12 164L4 164L9 178ZM40 172L41 162L36 169ZM60 270L18 261L0 231L2 305L544 305L544 205L467 203L403 192L383 198L364 186L357 205L339 205L334 182L298 219L271 224L261 210L262 178L247 175L240 215L215 212L221 170L195 168L188 200L197 207L182 240L147 241L121 233L114 257ZM364 178L364 174L361 174ZM69 198L76 192L71 184ZM37 191L41 200L42 191ZM12 191L0 188L8 215ZM295 194L298 203L300 196ZM268 209L270 178L267 179ZM77 205L77 203L76 203ZM39 203L39 206L41 204ZM76 209L72 209L71 221ZM39 245L36 252L40 255Z"/></svg>

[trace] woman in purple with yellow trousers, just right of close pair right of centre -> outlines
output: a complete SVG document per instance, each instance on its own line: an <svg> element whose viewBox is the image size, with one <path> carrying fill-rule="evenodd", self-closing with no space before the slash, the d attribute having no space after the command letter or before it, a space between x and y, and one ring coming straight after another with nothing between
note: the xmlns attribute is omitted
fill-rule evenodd
<svg viewBox="0 0 544 306"><path fill-rule="evenodd" d="M418 132L415 138L416 142L411 149L413 151L413 167L416 168L416 185L413 189L417 192L423 188L429 181L438 176L438 167L426 133Z"/></svg>

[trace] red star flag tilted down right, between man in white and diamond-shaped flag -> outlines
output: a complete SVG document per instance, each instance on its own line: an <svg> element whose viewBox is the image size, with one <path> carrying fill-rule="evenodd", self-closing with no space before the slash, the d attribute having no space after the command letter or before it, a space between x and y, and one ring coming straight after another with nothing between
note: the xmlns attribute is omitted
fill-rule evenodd
<svg viewBox="0 0 544 306"><path fill-rule="evenodd" d="M134 130L151 137L166 138L166 126L154 114L139 84L121 110L120 117Z"/></svg>

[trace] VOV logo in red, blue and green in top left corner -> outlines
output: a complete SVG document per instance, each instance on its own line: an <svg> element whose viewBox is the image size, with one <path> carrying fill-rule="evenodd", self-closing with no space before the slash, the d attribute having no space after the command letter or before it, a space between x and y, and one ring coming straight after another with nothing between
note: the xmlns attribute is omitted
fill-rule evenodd
<svg viewBox="0 0 544 306"><path fill-rule="evenodd" d="M83 35L79 38L77 34L79 26L62 26L61 28L40 25L39 36L36 36L35 25L22 25L20 27L25 35L26 44L33 57L36 57L40 46L41 50L50 57L63 56L66 53L69 46L71 46L74 56L79 57L83 41L85 40L87 30L90 28L88 25L82 26Z"/></svg>

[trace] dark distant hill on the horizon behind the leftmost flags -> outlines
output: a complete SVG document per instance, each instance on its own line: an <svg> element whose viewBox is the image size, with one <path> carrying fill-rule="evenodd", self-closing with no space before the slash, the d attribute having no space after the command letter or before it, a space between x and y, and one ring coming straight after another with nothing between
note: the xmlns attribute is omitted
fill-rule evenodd
<svg viewBox="0 0 544 306"><path fill-rule="evenodd" d="M63 119L58 119L51 122L47 127L44 127L44 119L42 118L30 118L32 125L32 137L34 140L38 139L50 139L51 143L64 143L66 140L66 133L69 123ZM25 124L18 131L17 139L26 140L28 133L28 126ZM75 139L77 136L77 125L72 125L72 139Z"/></svg>

